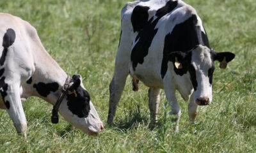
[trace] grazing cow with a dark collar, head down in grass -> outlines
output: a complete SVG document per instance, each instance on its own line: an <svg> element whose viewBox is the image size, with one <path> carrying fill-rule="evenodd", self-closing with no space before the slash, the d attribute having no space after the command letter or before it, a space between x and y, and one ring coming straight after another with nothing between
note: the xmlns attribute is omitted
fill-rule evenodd
<svg viewBox="0 0 256 153"><path fill-rule="evenodd" d="M43 47L36 29L19 17L0 13L0 108L9 113L17 133L26 137L27 122L21 99L38 96L54 105L65 120L84 133L103 129L81 75L72 78ZM56 102L57 101L57 102Z"/></svg>

